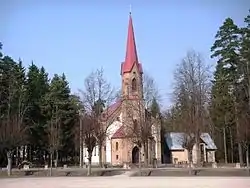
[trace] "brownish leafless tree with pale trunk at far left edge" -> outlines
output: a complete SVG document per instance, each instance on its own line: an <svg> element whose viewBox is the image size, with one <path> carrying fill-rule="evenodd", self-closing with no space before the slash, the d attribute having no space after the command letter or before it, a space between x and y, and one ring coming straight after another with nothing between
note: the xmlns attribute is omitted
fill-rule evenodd
<svg viewBox="0 0 250 188"><path fill-rule="evenodd" d="M27 126L24 124L25 113L28 106L25 103L23 86L13 87L10 83L8 87L8 97L6 101L7 110L0 117L0 147L6 151L8 159L8 175L11 175L12 156L14 150L25 144ZM17 99L17 100L16 100Z"/></svg>

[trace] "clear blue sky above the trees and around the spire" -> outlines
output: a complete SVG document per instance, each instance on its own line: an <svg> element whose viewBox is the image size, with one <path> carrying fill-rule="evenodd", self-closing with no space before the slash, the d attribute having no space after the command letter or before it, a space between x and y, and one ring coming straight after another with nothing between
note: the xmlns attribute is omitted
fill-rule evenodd
<svg viewBox="0 0 250 188"><path fill-rule="evenodd" d="M219 26L226 17L238 25L248 14L248 0L2 0L0 41L3 52L27 67L31 61L52 76L65 73L72 92L103 67L119 87L125 57L129 7L139 60L156 81L167 106L173 71L190 49L206 63Z"/></svg>

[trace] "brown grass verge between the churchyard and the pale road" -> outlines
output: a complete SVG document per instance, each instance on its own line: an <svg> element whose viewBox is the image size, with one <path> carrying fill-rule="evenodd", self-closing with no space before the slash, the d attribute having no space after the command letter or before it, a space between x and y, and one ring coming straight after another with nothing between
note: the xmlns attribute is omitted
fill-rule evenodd
<svg viewBox="0 0 250 188"><path fill-rule="evenodd" d="M129 174L128 174L129 173ZM48 177L49 170L44 169L30 169L29 171L14 169L12 171L11 178L36 178L36 177ZM165 176L165 177L190 177L187 168L143 168L140 172L138 168L125 170L122 168L93 168L92 176ZM191 176L199 177L250 177L250 173L244 168L196 168L192 171ZM52 176L54 177L85 177L87 176L86 168L58 168L53 169ZM0 170L0 178L7 178L7 172ZM250 179L250 178L249 178Z"/></svg>

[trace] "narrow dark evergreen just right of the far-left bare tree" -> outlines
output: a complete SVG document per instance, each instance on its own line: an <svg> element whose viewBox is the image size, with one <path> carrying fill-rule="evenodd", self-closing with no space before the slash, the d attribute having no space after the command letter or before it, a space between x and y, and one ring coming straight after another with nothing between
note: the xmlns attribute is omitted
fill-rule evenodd
<svg viewBox="0 0 250 188"><path fill-rule="evenodd" d="M37 157L42 160L46 148L45 117L41 112L42 99L48 92L48 74L42 67L39 69L33 62L28 68L26 99L29 105L26 123L29 125L29 143Z"/></svg>

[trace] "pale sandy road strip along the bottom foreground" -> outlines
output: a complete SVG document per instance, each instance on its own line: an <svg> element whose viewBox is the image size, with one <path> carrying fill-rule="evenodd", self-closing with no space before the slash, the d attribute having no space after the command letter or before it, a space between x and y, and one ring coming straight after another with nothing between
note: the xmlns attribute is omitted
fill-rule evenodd
<svg viewBox="0 0 250 188"><path fill-rule="evenodd" d="M0 179L3 188L249 188L250 178L219 177L54 177Z"/></svg>

